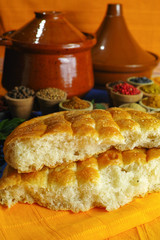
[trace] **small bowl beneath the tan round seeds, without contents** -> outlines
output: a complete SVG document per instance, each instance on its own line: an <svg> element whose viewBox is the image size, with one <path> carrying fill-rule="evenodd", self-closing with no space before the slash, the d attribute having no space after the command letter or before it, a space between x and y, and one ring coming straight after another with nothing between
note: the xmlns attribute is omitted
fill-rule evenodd
<svg viewBox="0 0 160 240"><path fill-rule="evenodd" d="M39 108L40 108L40 111L42 112L43 115L46 115L46 114L50 114L50 113L53 113L53 112L56 112L59 110L59 103L61 101L65 101L67 99L67 93L65 93L65 96L61 99L44 99L40 96L37 96L36 94L36 98L38 100L38 105L39 105Z"/></svg>

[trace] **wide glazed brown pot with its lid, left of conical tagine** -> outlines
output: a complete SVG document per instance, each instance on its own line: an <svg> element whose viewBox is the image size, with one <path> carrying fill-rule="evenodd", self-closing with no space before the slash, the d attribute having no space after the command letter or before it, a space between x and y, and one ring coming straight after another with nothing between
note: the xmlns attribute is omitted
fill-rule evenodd
<svg viewBox="0 0 160 240"><path fill-rule="evenodd" d="M2 85L34 90L60 88L68 97L82 96L94 85L93 36L76 29L61 12L37 12L18 31L2 36L6 46Z"/></svg>

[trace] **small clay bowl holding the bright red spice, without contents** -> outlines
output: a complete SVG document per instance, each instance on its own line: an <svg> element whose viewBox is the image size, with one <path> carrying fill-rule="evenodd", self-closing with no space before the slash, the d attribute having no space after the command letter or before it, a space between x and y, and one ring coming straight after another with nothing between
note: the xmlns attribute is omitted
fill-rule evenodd
<svg viewBox="0 0 160 240"><path fill-rule="evenodd" d="M125 94L114 92L113 90L111 90L110 95L111 95L113 105L116 107L125 103L134 103L134 102L136 103L140 101L143 97L142 92L136 95L125 95Z"/></svg>

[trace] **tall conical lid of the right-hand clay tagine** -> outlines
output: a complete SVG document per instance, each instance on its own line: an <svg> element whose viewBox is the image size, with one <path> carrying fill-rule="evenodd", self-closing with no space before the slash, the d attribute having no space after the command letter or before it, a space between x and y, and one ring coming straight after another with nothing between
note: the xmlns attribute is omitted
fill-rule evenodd
<svg viewBox="0 0 160 240"><path fill-rule="evenodd" d="M123 17L122 4L108 4L106 15L96 32L92 49L97 70L133 71L158 63L159 57L145 51L130 33Z"/></svg>

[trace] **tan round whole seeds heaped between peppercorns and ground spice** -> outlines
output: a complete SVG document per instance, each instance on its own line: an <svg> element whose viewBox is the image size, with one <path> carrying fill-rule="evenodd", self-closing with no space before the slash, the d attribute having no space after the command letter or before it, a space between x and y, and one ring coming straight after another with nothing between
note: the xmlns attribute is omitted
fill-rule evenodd
<svg viewBox="0 0 160 240"><path fill-rule="evenodd" d="M59 88L44 88L37 92L37 97L46 100L61 100L66 98L66 92Z"/></svg>

